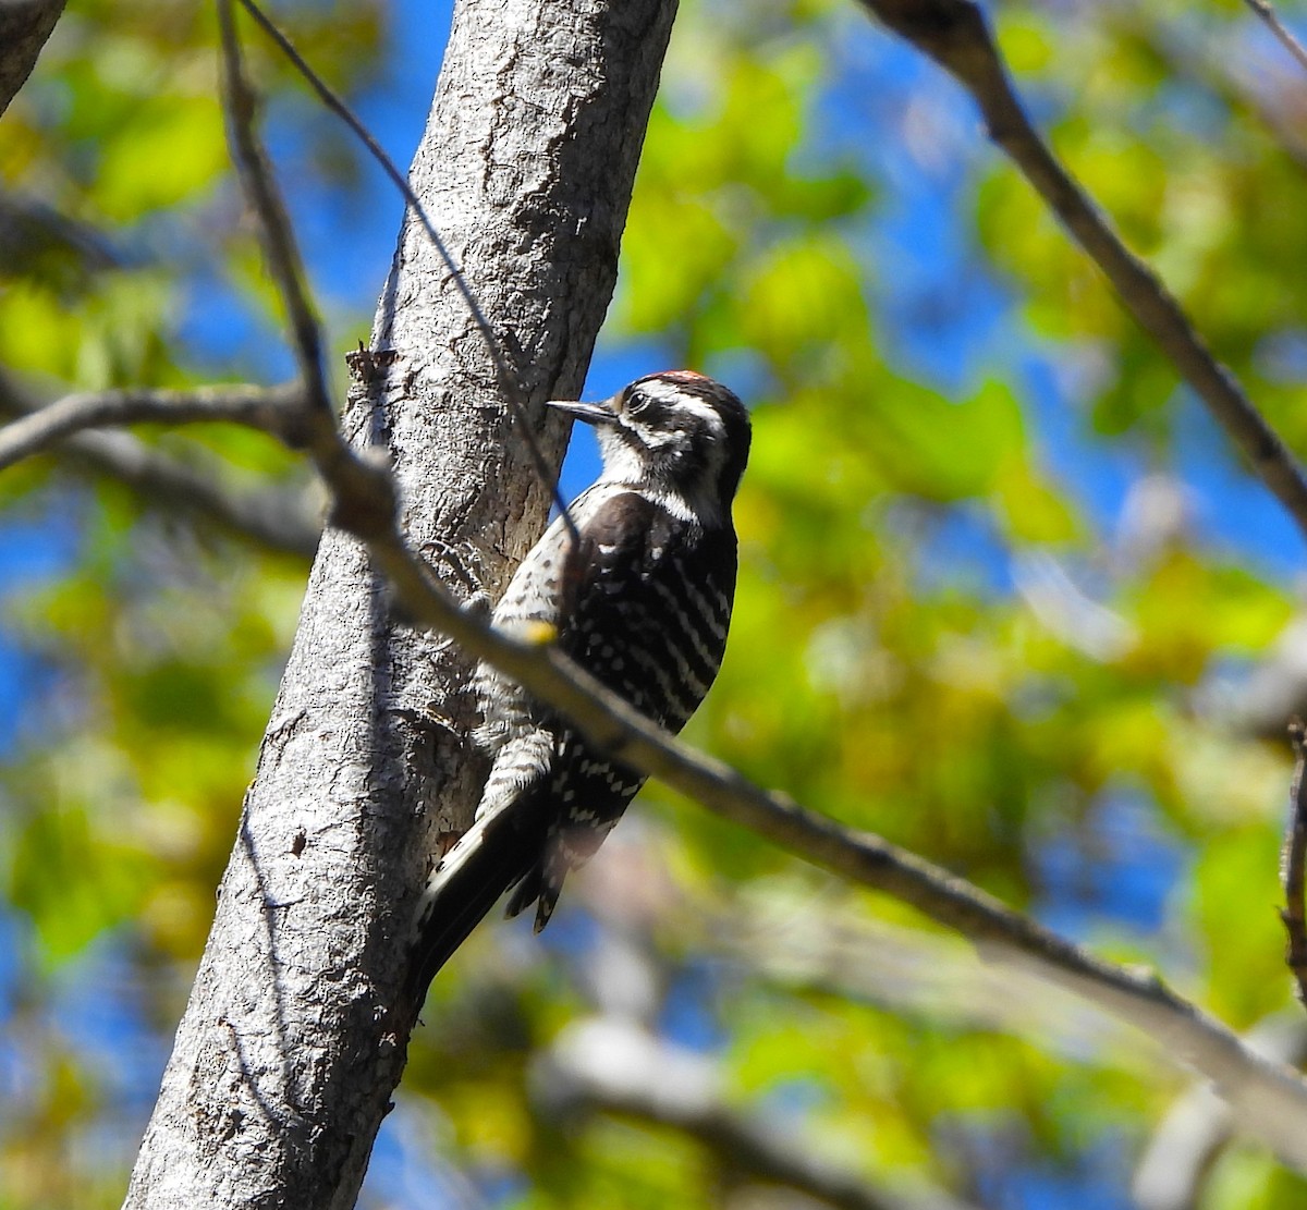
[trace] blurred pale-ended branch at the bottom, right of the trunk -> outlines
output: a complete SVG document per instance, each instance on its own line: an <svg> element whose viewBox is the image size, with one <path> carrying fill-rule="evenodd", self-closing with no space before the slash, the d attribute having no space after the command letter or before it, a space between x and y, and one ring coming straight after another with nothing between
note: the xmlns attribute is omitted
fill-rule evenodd
<svg viewBox="0 0 1307 1210"><path fill-rule="evenodd" d="M634 1024L593 1018L569 1026L537 1065L544 1108L638 1119L680 1130L727 1167L840 1210L968 1210L942 1189L877 1188L814 1156L784 1126L732 1108L716 1065Z"/></svg>

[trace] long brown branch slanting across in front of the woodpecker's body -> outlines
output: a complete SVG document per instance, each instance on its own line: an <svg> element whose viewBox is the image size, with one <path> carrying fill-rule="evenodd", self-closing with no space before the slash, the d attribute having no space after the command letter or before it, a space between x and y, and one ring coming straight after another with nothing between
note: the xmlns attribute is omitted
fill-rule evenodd
<svg viewBox="0 0 1307 1210"><path fill-rule="evenodd" d="M227 72L239 76L239 48L230 33L233 0L218 3L220 10L229 10L223 25L223 54L231 60ZM237 123L248 118L248 110L233 112ZM240 132L238 154L248 146L256 146L252 129ZM261 165L261 155L254 155L246 170L263 172ZM251 196L272 188L265 178ZM289 231L286 238L291 238ZM728 766L682 746L557 647L502 634L464 613L400 533L389 473L358 459L323 409L312 409L310 419L306 446L332 491L332 524L365 542L372 567L413 625L438 630L469 656L490 661L570 717L597 747L724 818L814 865L912 904L984 949L1009 959L1031 959L1046 977L1145 1030L1167 1053L1216 1081L1248 1129L1307 1169L1307 1083L1260 1058L1151 972L1095 958L924 858L804 810L787 796L767 793Z"/></svg>

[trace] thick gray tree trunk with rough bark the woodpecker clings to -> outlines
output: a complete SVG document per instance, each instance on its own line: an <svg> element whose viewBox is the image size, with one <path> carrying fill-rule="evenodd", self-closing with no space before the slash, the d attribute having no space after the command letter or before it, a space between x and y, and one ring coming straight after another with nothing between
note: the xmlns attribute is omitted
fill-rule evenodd
<svg viewBox="0 0 1307 1210"><path fill-rule="evenodd" d="M616 278L674 0L461 0L413 186L498 332L548 457ZM515 346L516 346L515 345ZM529 469L463 299L406 222L344 423L384 446L410 540L491 595L538 536ZM329 532L125 1205L348 1207L404 1068L404 942L471 819L468 662L395 619Z"/></svg>

